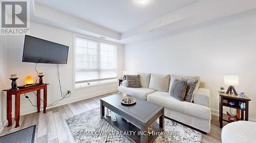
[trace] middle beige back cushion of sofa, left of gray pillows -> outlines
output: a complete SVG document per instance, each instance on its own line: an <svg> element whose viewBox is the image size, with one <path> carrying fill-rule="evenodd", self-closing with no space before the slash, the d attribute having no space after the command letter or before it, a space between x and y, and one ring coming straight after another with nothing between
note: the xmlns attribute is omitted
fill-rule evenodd
<svg viewBox="0 0 256 143"><path fill-rule="evenodd" d="M151 74L149 89L168 92L170 75Z"/></svg>

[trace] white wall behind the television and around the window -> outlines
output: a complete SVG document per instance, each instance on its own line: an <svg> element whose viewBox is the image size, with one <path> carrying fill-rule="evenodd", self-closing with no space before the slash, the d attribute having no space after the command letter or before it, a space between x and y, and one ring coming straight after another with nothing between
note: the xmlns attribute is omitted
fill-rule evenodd
<svg viewBox="0 0 256 143"><path fill-rule="evenodd" d="M86 98L90 98L92 96L113 92L117 90L118 83L111 83L100 85L98 87L91 87L79 90L73 90L73 33L69 31L62 30L60 28L47 26L35 22L30 23L30 35L39 37L42 39L50 40L56 43L60 43L63 45L68 45L69 48L69 56L68 56L68 64L67 65L59 65L60 68L60 81L62 85L63 92L71 91L72 95L69 98L61 101L57 105L66 104ZM35 79L37 78L36 71L34 70L35 64L33 63L23 63L22 55L23 55L23 45L24 45L24 37L25 36L8 36L6 45L8 45L7 49L7 77L10 74L17 74L19 79L17 80L18 85L24 84L24 80L26 76L31 75ZM95 39L95 38L92 38ZM118 65L117 65L117 75L120 77L122 75L123 70L123 45L117 44L117 54L118 54ZM6 53L5 53L6 54ZM57 56L57 55L56 55ZM49 83L48 85L48 103L52 103L57 99L60 99L60 92L58 88L58 80L56 76L56 65L55 64L38 64L37 65L38 72L44 73L44 82ZM10 88L11 80L8 80L7 88ZM36 96L33 93L27 94L32 103L36 105ZM41 91L42 95L42 91ZM42 98L42 96L41 96ZM6 102L6 100L4 101ZM13 101L14 105L14 101ZM42 105L42 103L41 103ZM6 110L6 106L3 106L4 110ZM14 106L13 106L14 109ZM24 95L21 95L20 98L20 114L24 115L30 112L35 112L36 107L33 107L30 102L25 98ZM6 111L4 119L6 119ZM14 110L13 110L14 116Z"/></svg>

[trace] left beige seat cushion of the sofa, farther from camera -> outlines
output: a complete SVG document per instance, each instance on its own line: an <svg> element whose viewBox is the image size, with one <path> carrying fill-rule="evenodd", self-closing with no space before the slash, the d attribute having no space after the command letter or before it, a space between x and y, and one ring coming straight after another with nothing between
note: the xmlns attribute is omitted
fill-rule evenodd
<svg viewBox="0 0 256 143"><path fill-rule="evenodd" d="M156 92L155 90L147 89L147 88L127 88L123 86L118 87L118 91L121 93L129 94L141 99L146 100L148 94Z"/></svg>

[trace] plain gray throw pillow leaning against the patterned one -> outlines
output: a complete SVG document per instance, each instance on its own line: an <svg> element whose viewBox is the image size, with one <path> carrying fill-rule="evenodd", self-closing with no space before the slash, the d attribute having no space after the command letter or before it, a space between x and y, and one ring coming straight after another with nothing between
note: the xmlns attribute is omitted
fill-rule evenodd
<svg viewBox="0 0 256 143"><path fill-rule="evenodd" d="M170 89L170 96L183 101L187 88L187 81L186 80L179 80L175 79Z"/></svg>

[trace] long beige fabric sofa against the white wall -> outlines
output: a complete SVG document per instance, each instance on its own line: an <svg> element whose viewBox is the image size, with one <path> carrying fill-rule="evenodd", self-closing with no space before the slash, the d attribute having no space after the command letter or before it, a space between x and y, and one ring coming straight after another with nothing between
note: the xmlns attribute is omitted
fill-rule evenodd
<svg viewBox="0 0 256 143"><path fill-rule="evenodd" d="M203 132L210 132L210 91L204 88L199 76L159 75L139 73L142 88L128 88L126 80L118 91L164 106L165 117L179 121ZM179 101L170 96L175 79L198 79L193 102Z"/></svg>

